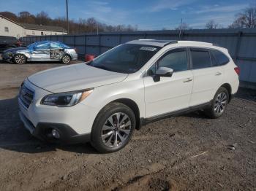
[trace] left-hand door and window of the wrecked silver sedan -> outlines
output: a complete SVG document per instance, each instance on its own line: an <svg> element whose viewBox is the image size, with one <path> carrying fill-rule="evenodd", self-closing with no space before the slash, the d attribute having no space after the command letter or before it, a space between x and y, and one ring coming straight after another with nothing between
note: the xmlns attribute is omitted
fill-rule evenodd
<svg viewBox="0 0 256 191"><path fill-rule="evenodd" d="M39 44L31 50L32 61L50 61L50 43Z"/></svg>

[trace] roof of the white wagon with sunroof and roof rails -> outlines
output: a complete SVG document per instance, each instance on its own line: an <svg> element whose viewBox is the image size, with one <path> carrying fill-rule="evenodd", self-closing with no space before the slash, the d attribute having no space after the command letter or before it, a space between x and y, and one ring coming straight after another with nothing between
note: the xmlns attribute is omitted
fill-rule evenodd
<svg viewBox="0 0 256 191"><path fill-rule="evenodd" d="M208 42L197 42L197 41L177 41L177 40L157 40L157 39L138 39L127 42L127 44L143 44L149 46L165 47L168 44L186 44L186 45L205 45L213 46L214 44Z"/></svg>

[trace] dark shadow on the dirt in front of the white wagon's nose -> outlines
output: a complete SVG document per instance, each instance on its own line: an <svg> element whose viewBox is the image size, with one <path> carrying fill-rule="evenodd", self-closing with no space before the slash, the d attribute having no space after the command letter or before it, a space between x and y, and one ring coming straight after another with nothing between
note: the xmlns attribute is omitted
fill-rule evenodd
<svg viewBox="0 0 256 191"><path fill-rule="evenodd" d="M18 116L18 98L0 100L0 148L15 152L39 153L64 151L75 153L98 153L91 144L48 144L31 136Z"/></svg>

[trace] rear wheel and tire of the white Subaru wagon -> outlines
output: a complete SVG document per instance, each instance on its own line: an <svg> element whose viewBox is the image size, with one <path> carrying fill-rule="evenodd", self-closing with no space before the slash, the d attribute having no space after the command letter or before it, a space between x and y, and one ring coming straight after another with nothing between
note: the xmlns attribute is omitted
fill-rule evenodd
<svg viewBox="0 0 256 191"><path fill-rule="evenodd" d="M225 87L219 87L219 90L217 90L217 93L214 95L214 99L211 101L210 108L205 110L208 117L212 119L221 117L227 108L229 99L227 89Z"/></svg>

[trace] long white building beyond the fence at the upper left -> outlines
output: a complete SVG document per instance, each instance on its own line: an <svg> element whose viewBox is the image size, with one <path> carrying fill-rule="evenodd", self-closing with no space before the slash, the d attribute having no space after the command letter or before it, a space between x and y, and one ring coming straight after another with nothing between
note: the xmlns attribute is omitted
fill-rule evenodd
<svg viewBox="0 0 256 191"><path fill-rule="evenodd" d="M67 34L67 31L59 26L42 26L26 23L16 23L7 17L0 15L0 36L41 36Z"/></svg>

